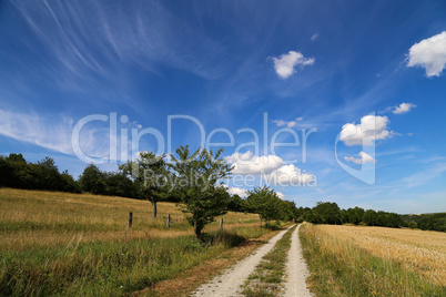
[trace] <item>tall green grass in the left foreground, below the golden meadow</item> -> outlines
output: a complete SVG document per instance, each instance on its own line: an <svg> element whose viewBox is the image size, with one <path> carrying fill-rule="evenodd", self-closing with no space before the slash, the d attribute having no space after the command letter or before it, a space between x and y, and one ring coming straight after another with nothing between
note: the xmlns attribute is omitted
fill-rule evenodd
<svg viewBox="0 0 446 297"><path fill-rule="evenodd" d="M253 237L261 232L253 228ZM244 231L244 234L249 233ZM121 296L169 279L245 240L236 233L122 243L84 243L63 248L4 252L0 262L1 295Z"/></svg>

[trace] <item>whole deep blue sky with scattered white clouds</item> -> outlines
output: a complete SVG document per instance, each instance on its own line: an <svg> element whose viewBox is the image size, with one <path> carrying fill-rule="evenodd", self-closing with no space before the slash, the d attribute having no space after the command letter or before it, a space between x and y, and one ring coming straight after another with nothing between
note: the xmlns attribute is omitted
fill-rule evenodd
<svg viewBox="0 0 446 297"><path fill-rule="evenodd" d="M199 147L202 126L237 176L283 178L298 206L444 212L445 16L443 0L1 1L0 153L78 176L90 116L79 147L115 170L166 152L182 115L172 147ZM298 146L271 150L293 131Z"/></svg>

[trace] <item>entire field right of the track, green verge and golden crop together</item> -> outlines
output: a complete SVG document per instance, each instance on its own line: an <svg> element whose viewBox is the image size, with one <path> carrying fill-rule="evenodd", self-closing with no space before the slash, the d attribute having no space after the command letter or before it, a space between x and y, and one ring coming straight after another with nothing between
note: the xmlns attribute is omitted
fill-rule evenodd
<svg viewBox="0 0 446 297"><path fill-rule="evenodd" d="M300 237L312 290L317 296L445 296L446 236L407 229L410 238L402 232L304 224Z"/></svg>

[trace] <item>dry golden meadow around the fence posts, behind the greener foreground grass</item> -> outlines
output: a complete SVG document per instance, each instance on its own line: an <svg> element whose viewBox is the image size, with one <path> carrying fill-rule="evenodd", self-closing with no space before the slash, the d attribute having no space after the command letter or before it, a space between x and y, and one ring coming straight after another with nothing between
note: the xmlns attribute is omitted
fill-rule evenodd
<svg viewBox="0 0 446 297"><path fill-rule="evenodd" d="M148 201L91 194L0 188L0 250L24 250L72 242L123 240L129 212L133 226L128 239L192 235L185 215L174 203L159 203L152 217ZM171 227L166 216L171 215ZM257 216L227 213L224 228L254 226ZM205 229L219 228L214 222Z"/></svg>

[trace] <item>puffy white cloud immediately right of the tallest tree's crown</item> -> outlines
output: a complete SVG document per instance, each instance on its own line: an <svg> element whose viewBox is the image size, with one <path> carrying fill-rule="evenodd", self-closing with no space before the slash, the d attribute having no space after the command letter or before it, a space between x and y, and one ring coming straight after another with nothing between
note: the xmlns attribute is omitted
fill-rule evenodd
<svg viewBox="0 0 446 297"><path fill-rule="evenodd" d="M268 174L283 164L283 160L275 155L254 156L251 151L246 153L234 153L224 157L227 163L234 166L234 174Z"/></svg>

